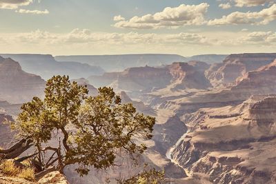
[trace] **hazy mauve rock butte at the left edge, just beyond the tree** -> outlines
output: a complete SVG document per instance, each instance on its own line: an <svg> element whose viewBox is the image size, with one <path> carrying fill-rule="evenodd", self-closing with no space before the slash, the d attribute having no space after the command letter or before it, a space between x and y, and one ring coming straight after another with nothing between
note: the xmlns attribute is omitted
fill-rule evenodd
<svg viewBox="0 0 276 184"><path fill-rule="evenodd" d="M45 81L40 76L28 74L12 59L0 61L0 98L11 103L30 101L33 96L43 96Z"/></svg>

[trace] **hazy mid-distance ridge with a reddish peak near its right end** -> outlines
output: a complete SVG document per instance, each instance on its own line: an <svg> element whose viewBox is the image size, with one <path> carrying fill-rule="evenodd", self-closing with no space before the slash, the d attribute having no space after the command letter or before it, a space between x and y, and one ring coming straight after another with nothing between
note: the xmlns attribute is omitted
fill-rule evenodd
<svg viewBox="0 0 276 184"><path fill-rule="evenodd" d="M152 92L184 90L187 88L206 89L211 85L204 75L206 63L193 61L189 63L172 63L160 68L128 68L124 72L110 72L103 76L90 76L92 85L111 85L117 90L128 92Z"/></svg>

